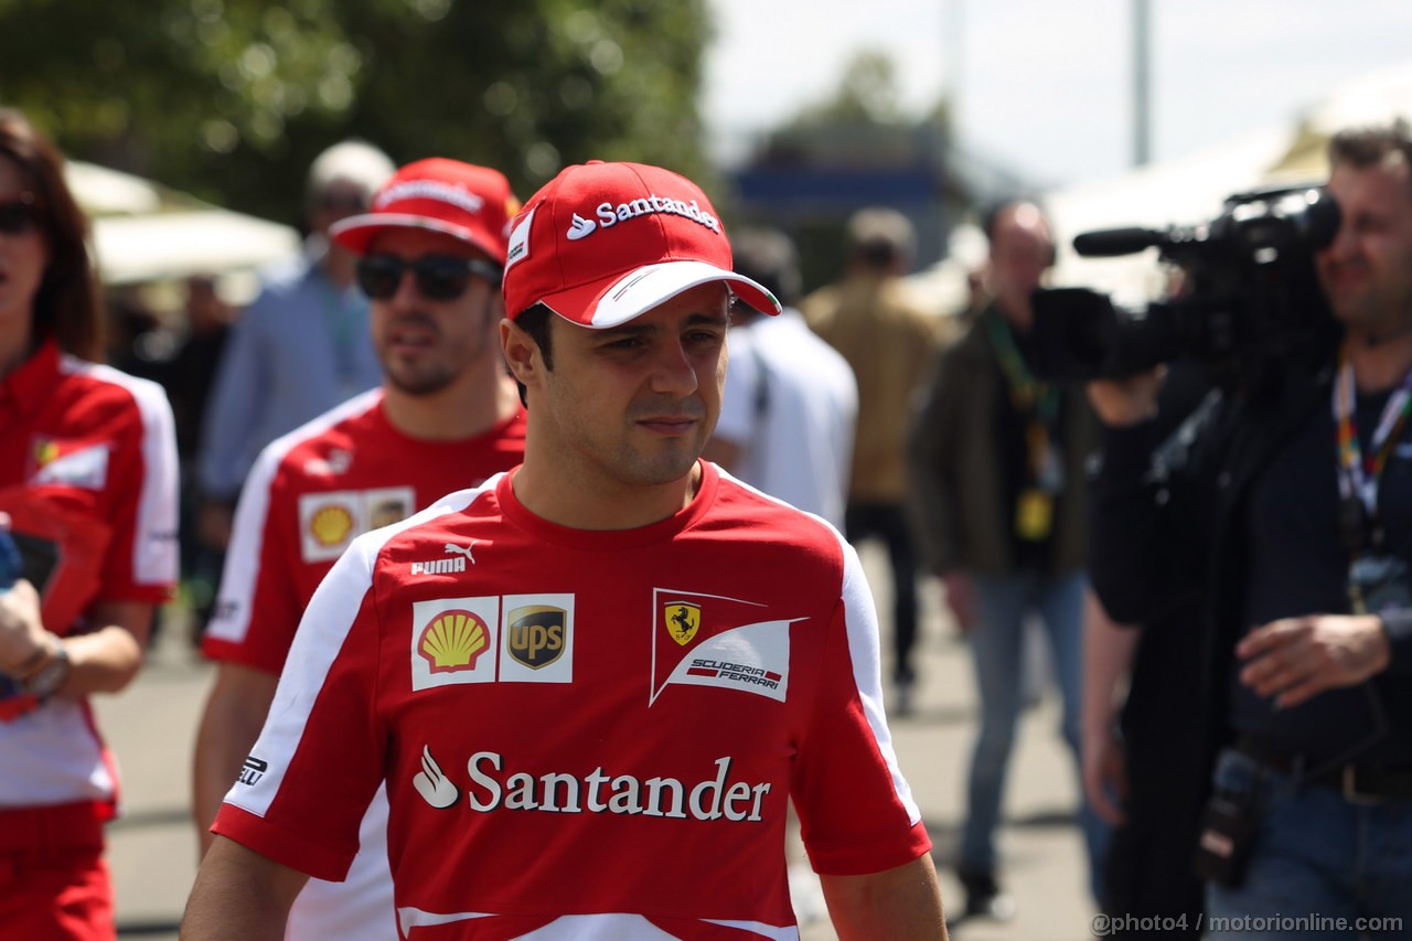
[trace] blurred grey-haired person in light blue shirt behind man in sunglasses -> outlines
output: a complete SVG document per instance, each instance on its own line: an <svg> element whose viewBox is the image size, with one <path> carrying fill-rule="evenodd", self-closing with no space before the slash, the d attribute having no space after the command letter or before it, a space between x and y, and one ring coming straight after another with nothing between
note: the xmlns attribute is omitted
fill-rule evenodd
<svg viewBox="0 0 1412 941"><path fill-rule="evenodd" d="M260 449L381 379L367 298L353 285L354 257L330 243L328 230L364 212L393 170L387 154L357 140L315 158L305 185L304 254L267 276L225 343L196 463L199 537L217 554Z"/></svg>

